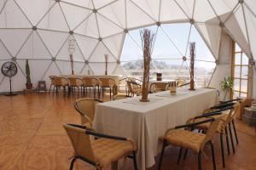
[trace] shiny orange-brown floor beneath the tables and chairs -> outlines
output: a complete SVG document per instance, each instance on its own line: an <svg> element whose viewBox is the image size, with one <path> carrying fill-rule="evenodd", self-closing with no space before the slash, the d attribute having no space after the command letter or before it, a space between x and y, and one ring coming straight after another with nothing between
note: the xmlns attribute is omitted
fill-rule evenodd
<svg viewBox="0 0 256 170"><path fill-rule="evenodd" d="M46 93L0 96L0 169L69 169L68 158L73 156L73 149L62 123L79 123L79 115L72 105L74 99ZM226 156L225 169L254 170L256 133L253 127L247 127L240 121L236 124L240 144L236 145L236 154ZM222 169L218 136L214 145L218 169ZM192 152L189 152L185 161L177 165L177 151L175 147L166 149L162 169L197 169L197 157ZM203 169L212 169L209 148L206 153L209 157L203 158ZM156 157L156 161L158 159ZM119 169L132 169L131 166L128 159L119 162ZM74 169L94 168L78 161ZM154 166L149 169L156 168Z"/></svg>

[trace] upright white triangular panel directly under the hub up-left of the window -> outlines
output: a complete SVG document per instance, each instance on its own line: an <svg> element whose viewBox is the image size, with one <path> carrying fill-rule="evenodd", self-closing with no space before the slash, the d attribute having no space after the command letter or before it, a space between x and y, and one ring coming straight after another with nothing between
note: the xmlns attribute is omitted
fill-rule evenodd
<svg viewBox="0 0 256 170"><path fill-rule="evenodd" d="M90 14L89 17L84 20L74 32L89 36L89 37L99 37L99 29L96 21L96 14Z"/></svg>

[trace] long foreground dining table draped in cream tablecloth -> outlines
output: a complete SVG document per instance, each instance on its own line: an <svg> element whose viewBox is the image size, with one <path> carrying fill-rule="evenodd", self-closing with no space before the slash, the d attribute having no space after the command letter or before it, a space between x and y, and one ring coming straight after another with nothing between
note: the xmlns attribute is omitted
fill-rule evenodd
<svg viewBox="0 0 256 170"><path fill-rule="evenodd" d="M144 170L154 165L154 156L160 153L162 145L159 138L166 129L182 125L216 105L218 91L181 88L176 95L165 91L149 94L149 102L139 99L141 97L137 96L96 105L94 128L99 133L133 139L137 144L138 167Z"/></svg>

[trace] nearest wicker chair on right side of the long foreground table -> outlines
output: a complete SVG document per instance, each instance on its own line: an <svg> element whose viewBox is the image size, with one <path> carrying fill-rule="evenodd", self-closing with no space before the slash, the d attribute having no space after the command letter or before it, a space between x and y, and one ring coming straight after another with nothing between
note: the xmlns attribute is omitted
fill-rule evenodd
<svg viewBox="0 0 256 170"><path fill-rule="evenodd" d="M193 129L193 127L195 127L196 125L200 125L203 123L210 124L207 134L191 132L190 130L191 128ZM216 169L214 148L212 144L212 136L215 133L218 127L218 124L219 124L219 119L209 118L205 121L189 123L186 125L177 126L177 127L168 129L165 135L160 138L160 140L163 141L163 147L160 154L160 162L159 162L158 169L160 170L165 148L168 144L172 144L180 147L178 161L177 161L178 163L180 161L180 157L183 149L193 150L195 153L197 153L198 169L200 170L201 170L201 154L203 153L205 145L210 144L212 149L212 165L213 165L213 169ZM181 128L185 128L185 129L183 130Z"/></svg>

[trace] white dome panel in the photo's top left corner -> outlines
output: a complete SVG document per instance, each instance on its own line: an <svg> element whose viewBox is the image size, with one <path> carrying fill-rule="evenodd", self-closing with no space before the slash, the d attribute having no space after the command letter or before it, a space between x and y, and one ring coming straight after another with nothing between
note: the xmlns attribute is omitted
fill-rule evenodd
<svg viewBox="0 0 256 170"><path fill-rule="evenodd" d="M26 19L26 15L22 13L15 1L9 0L0 14L0 27L32 28L32 25L29 20Z"/></svg>

